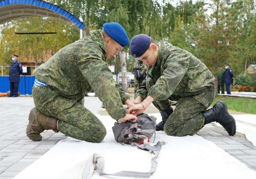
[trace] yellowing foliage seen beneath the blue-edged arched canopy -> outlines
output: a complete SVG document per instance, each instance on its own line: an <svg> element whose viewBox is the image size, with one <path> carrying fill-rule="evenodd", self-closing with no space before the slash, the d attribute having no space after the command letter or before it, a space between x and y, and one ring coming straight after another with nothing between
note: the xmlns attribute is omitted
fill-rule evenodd
<svg viewBox="0 0 256 179"><path fill-rule="evenodd" d="M46 61L43 57L54 54L67 44L79 39L79 32L68 23L58 22L47 17L22 18L8 22L3 26L0 37L0 62L9 65L12 53L20 55L22 62L33 60ZM15 32L46 32L56 34L26 34L18 35ZM43 59L43 60L42 60Z"/></svg>

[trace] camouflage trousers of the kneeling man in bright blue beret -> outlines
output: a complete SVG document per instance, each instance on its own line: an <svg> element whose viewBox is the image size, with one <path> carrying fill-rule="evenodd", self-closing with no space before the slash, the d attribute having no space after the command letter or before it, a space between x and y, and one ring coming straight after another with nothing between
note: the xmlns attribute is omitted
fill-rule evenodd
<svg viewBox="0 0 256 179"><path fill-rule="evenodd" d="M88 142L101 142L106 135L102 122L78 100L62 96L50 86L33 87L35 107L44 115L59 119L59 130L66 136Z"/></svg>

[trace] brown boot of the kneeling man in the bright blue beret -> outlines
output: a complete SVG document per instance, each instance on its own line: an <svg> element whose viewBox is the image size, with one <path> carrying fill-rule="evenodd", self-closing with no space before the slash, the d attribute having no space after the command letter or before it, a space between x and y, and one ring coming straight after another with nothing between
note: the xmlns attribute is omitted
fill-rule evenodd
<svg viewBox="0 0 256 179"><path fill-rule="evenodd" d="M55 132L57 130L58 119L46 116L40 113L36 108L32 108L29 115L29 124L27 126L27 136L32 141L42 140L41 132L44 130L52 129Z"/></svg>

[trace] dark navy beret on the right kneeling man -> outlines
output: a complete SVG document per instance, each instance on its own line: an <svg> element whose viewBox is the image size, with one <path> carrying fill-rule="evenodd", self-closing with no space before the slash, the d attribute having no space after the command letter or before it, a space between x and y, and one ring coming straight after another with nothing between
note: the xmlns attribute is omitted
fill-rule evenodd
<svg viewBox="0 0 256 179"><path fill-rule="evenodd" d="M130 54L137 58L142 56L151 44L151 37L146 34L135 35L130 41Z"/></svg>

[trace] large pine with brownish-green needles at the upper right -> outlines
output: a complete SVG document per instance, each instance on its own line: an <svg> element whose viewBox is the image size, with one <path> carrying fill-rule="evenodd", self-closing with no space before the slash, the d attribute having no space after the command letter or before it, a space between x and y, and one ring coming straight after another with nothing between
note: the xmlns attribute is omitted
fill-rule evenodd
<svg viewBox="0 0 256 179"><path fill-rule="evenodd" d="M213 0L196 13L189 27L192 52L213 73L225 63L231 63L234 71L239 73L245 54L252 55L254 40L250 35L254 30L248 27L255 26L253 4L247 0Z"/></svg>

